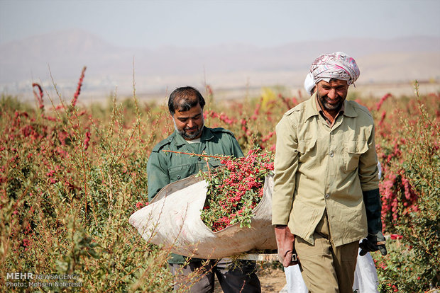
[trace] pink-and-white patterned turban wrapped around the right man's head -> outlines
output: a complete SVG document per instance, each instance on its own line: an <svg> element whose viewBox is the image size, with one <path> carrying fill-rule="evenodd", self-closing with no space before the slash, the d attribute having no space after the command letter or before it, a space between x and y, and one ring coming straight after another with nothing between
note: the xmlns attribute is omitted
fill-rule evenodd
<svg viewBox="0 0 440 293"><path fill-rule="evenodd" d="M314 59L310 72L313 75L314 83L330 79L341 79L347 84L354 84L359 77L359 68L356 61L343 52L322 54Z"/></svg>

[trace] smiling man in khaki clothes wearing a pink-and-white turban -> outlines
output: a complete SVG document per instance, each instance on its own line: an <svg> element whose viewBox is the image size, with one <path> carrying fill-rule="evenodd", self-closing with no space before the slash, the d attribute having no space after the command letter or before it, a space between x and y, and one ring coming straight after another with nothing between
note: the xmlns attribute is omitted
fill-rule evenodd
<svg viewBox="0 0 440 293"><path fill-rule="evenodd" d="M272 224L280 261L294 265L296 251L309 292L351 293L358 246L387 253L373 117L346 100L353 58L324 54L310 72L316 93L276 127Z"/></svg>

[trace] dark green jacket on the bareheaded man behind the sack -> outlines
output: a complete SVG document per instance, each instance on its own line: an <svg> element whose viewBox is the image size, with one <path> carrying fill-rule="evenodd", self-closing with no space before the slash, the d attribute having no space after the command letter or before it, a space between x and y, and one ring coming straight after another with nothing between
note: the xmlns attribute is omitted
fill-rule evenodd
<svg viewBox="0 0 440 293"><path fill-rule="evenodd" d="M207 162L198 156L175 154L163 150L180 151L190 154L207 154L209 156L243 156L233 133L224 128L204 127L200 143L189 144L177 131L162 142L156 144L147 164L148 200L152 200L159 190L172 182L187 178L207 170ZM219 159L209 159L209 168L220 165ZM177 227L176 227L177 229ZM172 253L169 263L184 263L182 255Z"/></svg>

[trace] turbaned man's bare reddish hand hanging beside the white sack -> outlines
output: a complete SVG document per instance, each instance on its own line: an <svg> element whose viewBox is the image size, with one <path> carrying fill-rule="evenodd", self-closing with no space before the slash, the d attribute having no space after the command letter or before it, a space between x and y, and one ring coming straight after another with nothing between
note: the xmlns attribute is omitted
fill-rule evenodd
<svg viewBox="0 0 440 293"><path fill-rule="evenodd" d="M298 263L295 253L295 235L290 233L289 227L285 225L275 226L275 238L277 239L278 260L287 268Z"/></svg>

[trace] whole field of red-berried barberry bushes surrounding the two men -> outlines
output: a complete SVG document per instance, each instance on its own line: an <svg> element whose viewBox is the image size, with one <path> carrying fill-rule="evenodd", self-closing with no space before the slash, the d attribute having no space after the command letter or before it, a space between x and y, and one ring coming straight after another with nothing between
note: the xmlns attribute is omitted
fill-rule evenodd
<svg viewBox="0 0 440 293"><path fill-rule="evenodd" d="M81 287L42 292L170 292L169 251L145 243L128 217L147 200L146 164L174 127L167 106L109 97L80 106L33 85L35 104L0 100L0 287L8 273L77 275ZM388 255L372 253L381 292L440 287L440 93L358 100L375 119ZM275 125L307 98L283 88L222 102L207 86L205 124L243 152L275 150ZM351 88L348 99L357 100ZM261 267L263 268L263 266ZM189 280L190 281L190 280ZM23 288L9 287L20 292Z"/></svg>

